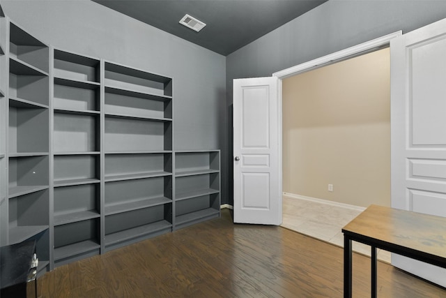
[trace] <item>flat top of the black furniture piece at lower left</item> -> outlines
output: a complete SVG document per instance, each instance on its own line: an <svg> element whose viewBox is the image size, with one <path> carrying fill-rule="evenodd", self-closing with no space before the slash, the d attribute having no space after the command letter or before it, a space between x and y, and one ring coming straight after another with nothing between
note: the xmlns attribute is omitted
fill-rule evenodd
<svg viewBox="0 0 446 298"><path fill-rule="evenodd" d="M26 283L35 248L35 241L25 241L0 248L0 285L2 289Z"/></svg>

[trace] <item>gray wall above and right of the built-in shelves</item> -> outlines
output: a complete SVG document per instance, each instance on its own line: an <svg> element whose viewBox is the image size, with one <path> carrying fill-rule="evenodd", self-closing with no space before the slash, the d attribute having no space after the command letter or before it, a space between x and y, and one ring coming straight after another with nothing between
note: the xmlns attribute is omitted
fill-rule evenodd
<svg viewBox="0 0 446 298"><path fill-rule="evenodd" d="M93 1L6 0L2 6L12 22L58 49L174 77L174 149L226 147L220 140L224 56Z"/></svg>

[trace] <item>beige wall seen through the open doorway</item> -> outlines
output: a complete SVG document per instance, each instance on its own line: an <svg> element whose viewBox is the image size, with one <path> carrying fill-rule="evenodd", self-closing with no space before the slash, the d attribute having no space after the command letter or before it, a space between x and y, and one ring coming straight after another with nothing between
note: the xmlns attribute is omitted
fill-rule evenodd
<svg viewBox="0 0 446 298"><path fill-rule="evenodd" d="M283 190L390 206L388 48L283 81Z"/></svg>

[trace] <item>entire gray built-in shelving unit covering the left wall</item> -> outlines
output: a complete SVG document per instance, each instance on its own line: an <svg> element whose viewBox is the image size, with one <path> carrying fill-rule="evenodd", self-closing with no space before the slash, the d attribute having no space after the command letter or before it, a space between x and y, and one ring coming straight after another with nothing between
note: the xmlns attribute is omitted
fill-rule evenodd
<svg viewBox="0 0 446 298"><path fill-rule="evenodd" d="M220 151L174 151L172 79L48 47L0 6L0 245L39 271L220 216Z"/></svg>

